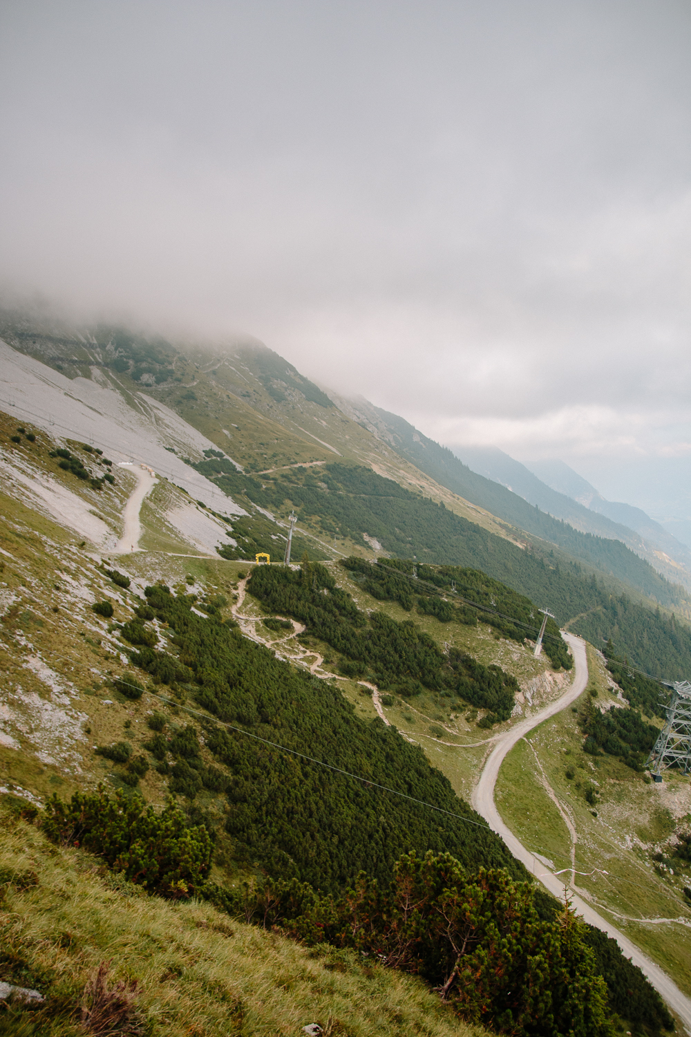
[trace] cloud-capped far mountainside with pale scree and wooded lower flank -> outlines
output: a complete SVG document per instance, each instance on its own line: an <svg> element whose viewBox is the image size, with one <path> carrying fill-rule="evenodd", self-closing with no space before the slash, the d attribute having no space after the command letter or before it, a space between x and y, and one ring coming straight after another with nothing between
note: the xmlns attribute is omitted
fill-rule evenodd
<svg viewBox="0 0 691 1037"><path fill-rule="evenodd" d="M403 557L476 566L549 604L563 622L581 622L576 617L587 614L592 623L599 616L597 635L613 635L640 664L635 632L643 623L636 610L659 602L691 616L688 595L620 540L582 534L530 507L403 419L377 412L374 429L364 427L367 417L352 415L339 400L326 405L316 387L255 341L183 348L116 328L30 330L28 318L3 320L3 334L16 346L4 347L5 366L13 363L22 377L31 368L32 377L28 388L21 379L10 386L9 395L17 396L10 404L21 402L30 418L42 412L35 420L55 427L41 395L49 393L50 410L74 410L87 440L95 443L107 430L109 450L119 449L121 457L132 451L145 464L155 450L157 472L229 520L234 557L259 550L281 556L287 516L299 496L298 535L317 557L368 554L378 542ZM314 473L325 475L332 463L374 473L372 487L364 496L320 492ZM316 487L308 485L309 472ZM334 475L343 483L340 469ZM363 478L358 474L355 482ZM402 495L391 492L387 479L403 487ZM404 535L395 528L401 529L403 512ZM604 585L593 583L596 573ZM633 612L613 604L627 591ZM623 616L630 629L622 627ZM657 640L645 646L645 665L656 673L676 673L685 665L686 649L671 650L666 621L652 621Z"/></svg>

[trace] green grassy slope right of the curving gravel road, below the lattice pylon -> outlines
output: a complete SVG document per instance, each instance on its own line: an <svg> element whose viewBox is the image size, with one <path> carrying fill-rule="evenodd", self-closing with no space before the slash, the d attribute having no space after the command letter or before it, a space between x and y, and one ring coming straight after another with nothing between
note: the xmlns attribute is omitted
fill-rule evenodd
<svg viewBox="0 0 691 1037"><path fill-rule="evenodd" d="M597 702L610 702L602 660L588 647L591 684ZM582 708L588 691L577 708ZM612 757L596 761L581 750L583 734L571 710L536 728L507 757L497 782L497 805L507 824L528 849L551 859L557 868L570 866L572 840L563 816L545 789L546 779L575 826L576 869L601 868L608 876L576 876L579 892L626 932L691 993L691 909L682 891L688 872L671 877L656 869L652 856L675 826L691 816L688 779L668 774L663 785L645 784ZM658 726L660 721L651 718ZM542 772L540 769L542 766ZM576 777L566 777L568 767ZM588 784L599 789L598 816L585 802ZM568 875L565 876L568 878ZM644 924L639 919L683 919Z"/></svg>

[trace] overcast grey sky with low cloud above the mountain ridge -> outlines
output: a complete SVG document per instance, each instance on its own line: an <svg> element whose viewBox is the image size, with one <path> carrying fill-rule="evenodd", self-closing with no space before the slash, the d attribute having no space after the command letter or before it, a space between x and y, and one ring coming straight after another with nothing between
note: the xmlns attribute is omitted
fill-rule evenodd
<svg viewBox="0 0 691 1037"><path fill-rule="evenodd" d="M5 291L249 332L632 503L688 468L688 0L0 11Z"/></svg>

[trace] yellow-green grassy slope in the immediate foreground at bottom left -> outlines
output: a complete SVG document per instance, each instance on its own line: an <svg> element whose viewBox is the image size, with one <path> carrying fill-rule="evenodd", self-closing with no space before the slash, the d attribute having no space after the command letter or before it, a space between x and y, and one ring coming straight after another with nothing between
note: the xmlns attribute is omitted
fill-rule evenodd
<svg viewBox="0 0 691 1037"><path fill-rule="evenodd" d="M0 976L38 988L49 1004L61 996L67 1012L99 962L114 959L112 980L140 985L138 1008L151 1037L293 1035L329 1020L333 1037L479 1033L413 977L231 924L208 904L147 897L6 810L0 820L0 878L33 872L38 879L24 891L0 885ZM27 1015L41 1037L83 1033L65 1018Z"/></svg>

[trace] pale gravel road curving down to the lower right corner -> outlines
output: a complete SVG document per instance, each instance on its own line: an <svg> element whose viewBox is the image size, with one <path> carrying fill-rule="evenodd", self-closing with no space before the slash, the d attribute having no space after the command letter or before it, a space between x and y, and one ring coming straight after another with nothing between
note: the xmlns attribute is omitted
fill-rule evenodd
<svg viewBox="0 0 691 1037"><path fill-rule="evenodd" d="M522 861L528 871L539 875L543 886L549 890L557 899L564 896L564 881L547 870L543 861L537 858L516 838L513 832L503 823L494 803L494 786L499 775L499 767L507 754L514 748L516 742L525 737L528 731L542 724L543 721L554 717L578 698L585 691L587 684L587 657L585 654L585 644L572 634L564 635L574 656L575 674L569 690L554 702L541 709L535 717L524 720L521 724L507 731L502 735L492 752L487 757L485 766L472 793L472 806L479 814L485 818L491 829L506 842L507 846L519 861ZM656 990L667 1002L667 1005L683 1021L687 1034L691 1035L691 1001L679 989L676 984L666 973L655 964L645 954L636 947L623 932L615 929L602 915L596 910L581 897L569 891L573 906L582 918L591 925L602 929L608 936L612 936L622 948L628 958L631 958L635 965L638 965L649 978Z"/></svg>

